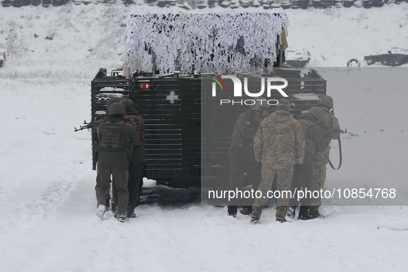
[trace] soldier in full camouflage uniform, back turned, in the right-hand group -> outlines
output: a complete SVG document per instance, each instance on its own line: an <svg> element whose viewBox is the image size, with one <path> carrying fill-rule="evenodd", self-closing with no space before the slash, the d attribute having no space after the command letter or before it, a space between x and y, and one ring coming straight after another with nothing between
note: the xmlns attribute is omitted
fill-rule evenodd
<svg viewBox="0 0 408 272"><path fill-rule="evenodd" d="M273 179L277 177L276 221L286 222L285 215L289 202L289 190L293 177L293 165L302 164L304 156L304 137L302 127L289 113L291 104L280 99L276 112L266 117L254 137L254 152L257 162L262 162L262 181L252 206L251 222L257 224L262 208L268 201L268 191ZM284 192L286 191L286 193Z"/></svg>

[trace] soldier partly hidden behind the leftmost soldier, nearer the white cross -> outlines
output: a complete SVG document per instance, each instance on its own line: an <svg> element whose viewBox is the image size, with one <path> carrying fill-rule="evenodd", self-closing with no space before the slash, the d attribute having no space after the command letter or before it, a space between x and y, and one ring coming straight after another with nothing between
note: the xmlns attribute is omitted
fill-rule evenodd
<svg viewBox="0 0 408 272"><path fill-rule="evenodd" d="M133 108L135 104L132 100L125 98L120 101L125 106L126 115L124 115L124 122L131 124L137 133L139 133L139 142L133 143L133 153L128 157L129 160L129 180L128 180L128 191L129 191L129 203L127 216L136 217L135 208L139 204L139 197L142 193L143 186L143 164L145 160L144 155L144 132L145 125L142 116L137 113L137 110ZM117 191L115 187L115 181L113 181L113 210L116 209L117 203Z"/></svg>

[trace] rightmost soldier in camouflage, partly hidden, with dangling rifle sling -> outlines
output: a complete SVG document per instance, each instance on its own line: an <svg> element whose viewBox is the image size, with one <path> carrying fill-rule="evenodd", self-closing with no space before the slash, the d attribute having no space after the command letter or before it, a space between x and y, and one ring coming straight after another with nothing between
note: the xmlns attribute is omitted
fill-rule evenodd
<svg viewBox="0 0 408 272"><path fill-rule="evenodd" d="M333 112L333 98L329 95L322 95L318 100L318 106L324 111L324 122L321 126L324 130L336 129L340 130L340 125L338 124L338 119L334 116ZM315 190L322 189L324 187L324 181L326 180L326 166L329 162L330 153L330 140L338 139L340 133L329 135L329 145L323 151L318 151L313 159L313 186ZM324 215L319 213L319 208L322 204L320 197L314 198L311 202L310 215L313 217L322 217Z"/></svg>

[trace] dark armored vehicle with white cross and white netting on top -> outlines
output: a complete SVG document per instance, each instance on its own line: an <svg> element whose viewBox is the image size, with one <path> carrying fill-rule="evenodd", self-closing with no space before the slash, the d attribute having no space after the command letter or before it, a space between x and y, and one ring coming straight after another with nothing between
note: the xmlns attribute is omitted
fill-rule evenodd
<svg viewBox="0 0 408 272"><path fill-rule="evenodd" d="M315 70L282 67L287 24L282 9L130 14L124 68L97 72L91 121L104 118L110 97L130 98L146 123L146 177L178 188L225 182L235 120L255 96L271 101L271 110L289 99L296 117L326 93ZM242 96L225 75L244 83ZM95 147L95 129L92 139Z"/></svg>

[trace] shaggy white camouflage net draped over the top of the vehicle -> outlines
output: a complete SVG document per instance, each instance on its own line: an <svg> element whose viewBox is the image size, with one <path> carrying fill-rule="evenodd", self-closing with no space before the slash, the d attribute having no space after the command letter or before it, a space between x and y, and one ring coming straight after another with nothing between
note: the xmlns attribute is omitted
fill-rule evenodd
<svg viewBox="0 0 408 272"><path fill-rule="evenodd" d="M202 68L263 67L289 25L282 8L268 12L131 13L124 61L130 72L182 73ZM278 41L279 44L282 41Z"/></svg>

